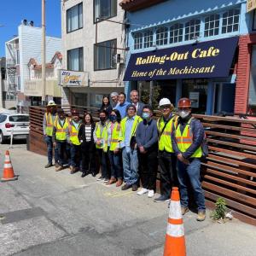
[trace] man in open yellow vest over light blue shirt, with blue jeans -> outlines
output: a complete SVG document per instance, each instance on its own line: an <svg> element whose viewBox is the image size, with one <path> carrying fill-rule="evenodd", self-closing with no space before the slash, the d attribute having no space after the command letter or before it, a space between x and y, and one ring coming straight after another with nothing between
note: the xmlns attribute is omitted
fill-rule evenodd
<svg viewBox="0 0 256 256"><path fill-rule="evenodd" d="M132 188L132 191L137 191L138 183L138 159L137 159L137 144L136 130L137 125L143 120L136 114L136 107L129 104L126 108L127 116L121 121L122 129L122 158L124 169L125 185L122 190Z"/></svg>

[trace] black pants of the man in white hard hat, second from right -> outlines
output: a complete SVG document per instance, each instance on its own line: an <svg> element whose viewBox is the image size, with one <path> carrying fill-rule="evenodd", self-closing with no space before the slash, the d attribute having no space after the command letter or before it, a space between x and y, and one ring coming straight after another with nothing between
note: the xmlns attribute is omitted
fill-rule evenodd
<svg viewBox="0 0 256 256"><path fill-rule="evenodd" d="M172 187L178 186L177 158L174 153L159 151L158 161L160 166L160 193L166 198L170 198Z"/></svg>

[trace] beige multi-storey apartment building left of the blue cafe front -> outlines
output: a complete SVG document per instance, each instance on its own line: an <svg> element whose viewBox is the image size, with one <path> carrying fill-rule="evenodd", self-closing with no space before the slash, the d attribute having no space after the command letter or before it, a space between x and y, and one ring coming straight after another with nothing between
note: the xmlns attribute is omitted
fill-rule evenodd
<svg viewBox="0 0 256 256"><path fill-rule="evenodd" d="M125 11L117 0L66 0L61 6L62 104L98 107L124 90ZM77 79L77 80L76 80Z"/></svg>

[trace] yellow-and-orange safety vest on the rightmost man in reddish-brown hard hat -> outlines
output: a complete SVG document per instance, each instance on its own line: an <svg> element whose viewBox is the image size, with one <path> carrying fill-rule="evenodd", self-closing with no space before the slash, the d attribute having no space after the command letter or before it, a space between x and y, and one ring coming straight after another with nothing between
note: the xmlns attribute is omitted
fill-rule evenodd
<svg viewBox="0 0 256 256"><path fill-rule="evenodd" d="M180 152L186 152L187 149L193 143L193 133L190 129L190 123L193 118L189 119L189 122L186 124L183 133L180 131L180 125L177 125L177 129L175 131L175 138L177 142L177 148ZM199 147L196 149L195 153L191 155L191 157L201 158L202 156L202 148Z"/></svg>

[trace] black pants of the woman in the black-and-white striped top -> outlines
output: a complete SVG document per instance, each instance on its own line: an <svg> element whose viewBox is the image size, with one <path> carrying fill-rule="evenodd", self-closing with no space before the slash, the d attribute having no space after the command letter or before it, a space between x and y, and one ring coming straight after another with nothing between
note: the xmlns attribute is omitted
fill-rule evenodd
<svg viewBox="0 0 256 256"><path fill-rule="evenodd" d="M82 149L82 172L96 173L96 149L93 142L83 143Z"/></svg>

